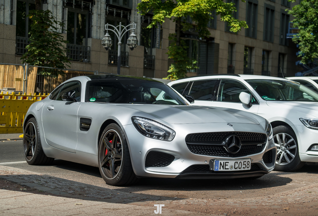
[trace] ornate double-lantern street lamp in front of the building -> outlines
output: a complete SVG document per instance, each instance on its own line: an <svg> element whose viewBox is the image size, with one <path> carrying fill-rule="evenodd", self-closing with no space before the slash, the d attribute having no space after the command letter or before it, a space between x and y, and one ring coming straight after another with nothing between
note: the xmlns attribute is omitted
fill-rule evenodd
<svg viewBox="0 0 318 216"><path fill-rule="evenodd" d="M112 27L113 29L110 29L108 27ZM126 26L121 25L121 22L119 22L119 25L114 26L111 24L105 24L105 30L106 33L104 35L104 37L101 40L101 45L108 50L111 46L112 43L112 39L110 37L110 35L108 34L108 30L112 31L115 33L115 35L117 36L118 39L118 52L117 52L117 74L120 74L120 45L121 45L121 38L122 36L128 31L128 30L132 30L132 33L129 35L128 39L127 39L127 45L128 47L132 50L134 49L137 44L138 44L138 40L137 40L137 36L134 34L133 30L136 29L136 23L132 23L132 24L128 24Z"/></svg>

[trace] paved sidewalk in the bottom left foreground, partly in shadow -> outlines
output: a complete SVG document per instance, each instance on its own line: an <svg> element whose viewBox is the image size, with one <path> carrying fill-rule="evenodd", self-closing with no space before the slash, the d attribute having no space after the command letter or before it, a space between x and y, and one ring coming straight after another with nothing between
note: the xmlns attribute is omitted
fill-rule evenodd
<svg viewBox="0 0 318 216"><path fill-rule="evenodd" d="M6 186L3 184L5 182L15 182L20 188ZM171 201L160 200L156 196L119 192L9 166L0 166L0 183L0 215L155 215L156 207L153 204L149 206L149 201L154 204L167 204ZM144 206L146 204L148 206ZM164 206L161 209L163 215L194 213Z"/></svg>

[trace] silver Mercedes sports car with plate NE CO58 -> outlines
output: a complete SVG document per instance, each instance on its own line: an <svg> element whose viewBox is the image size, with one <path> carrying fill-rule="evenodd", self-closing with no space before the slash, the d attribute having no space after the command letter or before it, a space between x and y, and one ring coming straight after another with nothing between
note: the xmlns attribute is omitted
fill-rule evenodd
<svg viewBox="0 0 318 216"><path fill-rule="evenodd" d="M274 168L264 118L191 105L152 79L78 76L34 102L23 123L29 164L54 158L99 167L107 184L138 177L257 178Z"/></svg>

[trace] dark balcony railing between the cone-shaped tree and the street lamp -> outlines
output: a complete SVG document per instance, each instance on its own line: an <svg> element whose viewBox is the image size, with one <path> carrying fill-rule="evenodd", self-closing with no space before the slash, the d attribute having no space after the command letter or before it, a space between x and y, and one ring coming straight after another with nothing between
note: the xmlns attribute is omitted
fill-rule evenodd
<svg viewBox="0 0 318 216"><path fill-rule="evenodd" d="M90 61L90 46L67 43L66 54L68 59L73 61Z"/></svg>

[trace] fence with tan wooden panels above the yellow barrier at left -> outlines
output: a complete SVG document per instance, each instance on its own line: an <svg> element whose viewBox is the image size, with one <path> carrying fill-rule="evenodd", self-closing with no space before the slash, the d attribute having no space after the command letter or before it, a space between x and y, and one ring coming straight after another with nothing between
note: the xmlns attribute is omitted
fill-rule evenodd
<svg viewBox="0 0 318 216"><path fill-rule="evenodd" d="M98 71L0 63L0 91L27 94L50 93L60 83L71 77L89 74L98 74Z"/></svg>

